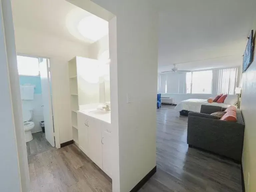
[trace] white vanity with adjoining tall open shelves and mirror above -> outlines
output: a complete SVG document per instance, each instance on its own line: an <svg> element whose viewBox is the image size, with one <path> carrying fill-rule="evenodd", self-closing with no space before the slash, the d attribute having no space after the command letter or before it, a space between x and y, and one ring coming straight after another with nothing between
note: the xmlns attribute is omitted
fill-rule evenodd
<svg viewBox="0 0 256 192"><path fill-rule="evenodd" d="M72 137L75 144L112 178L109 65L75 57L68 63Z"/></svg>

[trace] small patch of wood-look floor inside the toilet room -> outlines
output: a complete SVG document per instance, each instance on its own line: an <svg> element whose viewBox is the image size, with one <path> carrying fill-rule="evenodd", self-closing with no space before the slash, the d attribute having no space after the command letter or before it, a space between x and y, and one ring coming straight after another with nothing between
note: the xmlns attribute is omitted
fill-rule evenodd
<svg viewBox="0 0 256 192"><path fill-rule="evenodd" d="M51 144L46 140L45 133L32 133L33 140L26 143L28 156L40 153L52 148Z"/></svg>

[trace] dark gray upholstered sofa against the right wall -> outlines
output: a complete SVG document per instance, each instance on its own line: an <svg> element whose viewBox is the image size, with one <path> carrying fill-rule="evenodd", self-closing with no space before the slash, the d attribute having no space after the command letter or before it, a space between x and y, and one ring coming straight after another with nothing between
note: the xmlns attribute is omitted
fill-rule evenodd
<svg viewBox="0 0 256 192"><path fill-rule="evenodd" d="M240 109L236 110L237 122L219 120L210 115L226 108L202 105L200 113L189 112L187 143L241 162L244 120Z"/></svg>

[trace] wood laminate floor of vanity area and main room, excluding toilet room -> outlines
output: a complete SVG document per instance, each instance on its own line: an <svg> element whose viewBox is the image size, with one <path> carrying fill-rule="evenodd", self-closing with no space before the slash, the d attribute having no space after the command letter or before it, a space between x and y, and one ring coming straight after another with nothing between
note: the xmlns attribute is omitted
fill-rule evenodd
<svg viewBox="0 0 256 192"><path fill-rule="evenodd" d="M241 192L240 165L186 143L187 117L157 110L157 172L139 192ZM33 192L110 192L111 180L74 144L28 157Z"/></svg>

